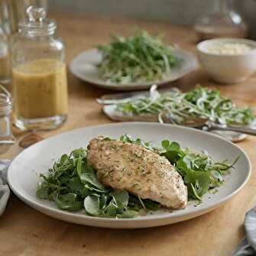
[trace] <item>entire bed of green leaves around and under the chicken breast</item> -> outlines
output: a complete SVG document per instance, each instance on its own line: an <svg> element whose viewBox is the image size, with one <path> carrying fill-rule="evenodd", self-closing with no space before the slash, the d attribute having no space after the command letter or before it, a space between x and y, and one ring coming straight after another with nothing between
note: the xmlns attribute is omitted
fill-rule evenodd
<svg viewBox="0 0 256 256"><path fill-rule="evenodd" d="M120 141L139 144L167 157L183 177L189 199L198 201L224 182L225 175L238 160L235 159L232 164L228 164L227 160L216 162L206 153L182 148L177 142L168 140L162 141L161 147L154 147L140 138L132 139L125 134ZM58 208L71 212L82 211L92 216L121 219L134 218L160 208L160 204L151 199L141 199L126 190L120 192L103 186L96 170L88 163L84 148L78 148L69 155L63 154L41 177L43 180L37 186L37 197L53 201Z"/></svg>

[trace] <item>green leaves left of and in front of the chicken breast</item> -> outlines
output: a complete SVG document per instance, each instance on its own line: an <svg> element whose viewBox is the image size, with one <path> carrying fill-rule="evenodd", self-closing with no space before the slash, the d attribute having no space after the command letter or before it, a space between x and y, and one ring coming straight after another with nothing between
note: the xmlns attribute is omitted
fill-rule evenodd
<svg viewBox="0 0 256 256"><path fill-rule="evenodd" d="M126 190L116 192L103 186L87 162L83 148L72 151L69 156L63 154L49 173L41 177L44 180L37 187L37 197L55 202L60 209L75 212L85 209L93 216L133 218L160 207L159 203L141 200Z"/></svg>

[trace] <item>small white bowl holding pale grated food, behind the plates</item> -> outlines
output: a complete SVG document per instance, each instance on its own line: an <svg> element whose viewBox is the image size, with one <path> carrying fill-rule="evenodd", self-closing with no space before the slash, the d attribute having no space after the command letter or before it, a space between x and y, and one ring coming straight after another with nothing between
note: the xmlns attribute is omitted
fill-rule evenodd
<svg viewBox="0 0 256 256"><path fill-rule="evenodd" d="M239 43L252 47L246 53L218 54L207 51L216 44ZM256 41L240 38L216 38L196 45L203 68L219 83L241 83L256 72Z"/></svg>

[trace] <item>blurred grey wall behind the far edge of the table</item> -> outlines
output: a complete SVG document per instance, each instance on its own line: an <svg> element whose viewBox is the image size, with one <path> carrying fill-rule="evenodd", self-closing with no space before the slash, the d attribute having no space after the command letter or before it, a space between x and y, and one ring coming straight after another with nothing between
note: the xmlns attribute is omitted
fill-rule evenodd
<svg viewBox="0 0 256 256"><path fill-rule="evenodd" d="M248 36L256 38L255 0L50 0L48 5L50 11L192 25L203 13L219 8L219 2L227 2L238 11L248 23Z"/></svg>

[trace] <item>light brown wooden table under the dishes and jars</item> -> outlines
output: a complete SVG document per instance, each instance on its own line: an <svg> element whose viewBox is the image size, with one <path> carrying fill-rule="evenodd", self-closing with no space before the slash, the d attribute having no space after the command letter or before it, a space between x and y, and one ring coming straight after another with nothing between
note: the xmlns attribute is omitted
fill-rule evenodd
<svg viewBox="0 0 256 256"><path fill-rule="evenodd" d="M67 60L96 44L109 41L109 34L128 34L135 26L151 32L164 32L167 41L195 50L196 35L189 28L170 24L124 21L120 19L77 18L73 15L53 15L59 24L59 34L66 42ZM180 79L172 86L187 90L200 83L215 86L240 104L256 105L256 76L238 85L218 86L203 70ZM62 128L41 132L44 138L63 131L110 122L95 101L107 91L83 83L69 74L70 115ZM18 138L24 136L15 130ZM252 161L253 173L245 188L234 199L206 215L186 222L159 228L113 230L74 225L52 219L12 195L0 218L0 256L43 255L230 255L244 235L245 212L256 201L256 139L248 137L238 144ZM21 148L15 145L1 158L13 158Z"/></svg>

